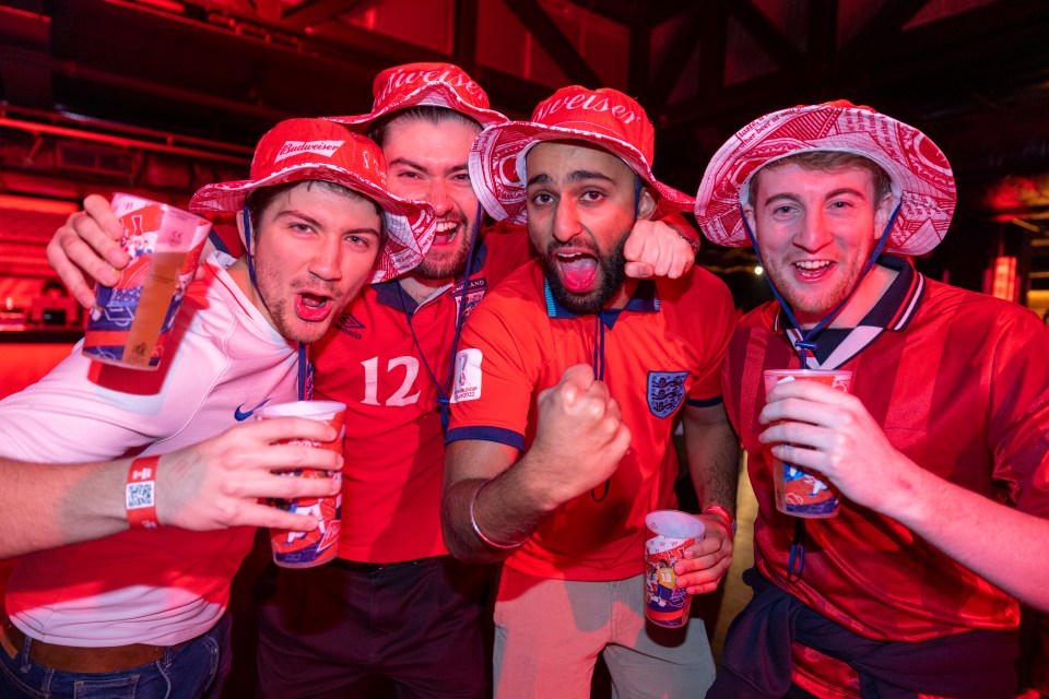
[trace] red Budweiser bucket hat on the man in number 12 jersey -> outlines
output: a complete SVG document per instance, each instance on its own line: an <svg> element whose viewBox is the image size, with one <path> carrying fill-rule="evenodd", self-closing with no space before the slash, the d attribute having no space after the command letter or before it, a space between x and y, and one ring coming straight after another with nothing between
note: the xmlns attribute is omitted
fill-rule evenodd
<svg viewBox="0 0 1049 699"><path fill-rule="evenodd" d="M372 84L372 111L353 117L327 117L332 121L367 131L372 122L399 109L433 106L464 114L482 127L508 119L491 109L488 95L470 75L451 63L405 63L387 68Z"/></svg>

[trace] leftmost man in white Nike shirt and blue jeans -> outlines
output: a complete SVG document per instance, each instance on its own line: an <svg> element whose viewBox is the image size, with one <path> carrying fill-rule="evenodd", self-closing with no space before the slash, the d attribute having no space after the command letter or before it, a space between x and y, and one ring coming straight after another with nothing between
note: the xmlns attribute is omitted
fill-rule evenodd
<svg viewBox="0 0 1049 699"><path fill-rule="evenodd" d="M435 225L432 209L386 190L375 143L320 119L279 123L259 142L250 180L203 187L190 209L235 217L246 252L207 260L160 369L74 352L0 403L3 455L135 454L130 481L264 404L309 398L306 344L368 281L416 263ZM132 531L17 564L0 695L217 696L229 663L229 583L254 530L144 532L155 522L130 509L128 521Z"/></svg>

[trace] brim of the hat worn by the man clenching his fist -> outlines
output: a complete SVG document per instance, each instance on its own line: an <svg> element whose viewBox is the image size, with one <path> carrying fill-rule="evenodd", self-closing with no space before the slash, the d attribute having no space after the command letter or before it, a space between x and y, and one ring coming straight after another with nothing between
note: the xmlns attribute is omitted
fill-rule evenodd
<svg viewBox="0 0 1049 699"><path fill-rule="evenodd" d="M524 155L543 141L585 141L609 151L656 190L658 215L691 211L695 200L668 187L652 174L645 155L620 138L587 129L568 129L533 121L509 121L485 129L470 149L470 179L484 210L497 221L528 223Z"/></svg>

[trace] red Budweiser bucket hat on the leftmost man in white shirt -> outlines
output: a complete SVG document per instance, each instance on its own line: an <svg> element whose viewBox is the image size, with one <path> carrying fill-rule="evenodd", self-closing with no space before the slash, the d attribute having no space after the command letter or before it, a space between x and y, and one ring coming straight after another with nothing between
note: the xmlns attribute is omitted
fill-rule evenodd
<svg viewBox="0 0 1049 699"><path fill-rule="evenodd" d="M382 210L386 241L370 282L382 282L419 264L434 240L436 215L425 202L409 201L386 189L386 158L379 146L325 119L288 119L267 132L255 150L251 179L207 185L189 210L228 223L259 187L317 179L360 192ZM243 242L243 241L241 241Z"/></svg>

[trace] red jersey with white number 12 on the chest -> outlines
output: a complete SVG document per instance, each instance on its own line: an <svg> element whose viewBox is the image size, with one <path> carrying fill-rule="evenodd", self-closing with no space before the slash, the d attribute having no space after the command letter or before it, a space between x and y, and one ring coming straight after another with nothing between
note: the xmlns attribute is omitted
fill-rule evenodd
<svg viewBox="0 0 1049 699"><path fill-rule="evenodd" d="M397 562L448 553L437 399L449 381L459 309L469 315L528 259L523 228L483 232L465 287L459 279L416 305L397 280L366 286L311 347L315 398L346 404L340 557Z"/></svg>

